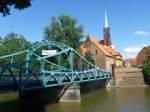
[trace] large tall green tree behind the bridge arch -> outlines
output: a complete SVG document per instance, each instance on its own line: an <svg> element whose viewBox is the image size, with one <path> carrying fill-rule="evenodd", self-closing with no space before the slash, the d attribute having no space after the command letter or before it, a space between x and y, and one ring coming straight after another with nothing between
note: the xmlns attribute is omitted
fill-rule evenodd
<svg viewBox="0 0 150 112"><path fill-rule="evenodd" d="M44 39L62 42L78 49L83 38L83 27L70 16L62 15L57 19L52 17L51 24L44 28Z"/></svg>

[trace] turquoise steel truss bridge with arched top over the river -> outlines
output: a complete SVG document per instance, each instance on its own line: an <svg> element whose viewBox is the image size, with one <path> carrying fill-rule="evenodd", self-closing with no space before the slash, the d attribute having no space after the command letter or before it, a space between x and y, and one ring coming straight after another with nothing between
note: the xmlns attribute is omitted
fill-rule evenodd
<svg viewBox="0 0 150 112"><path fill-rule="evenodd" d="M43 56L42 49L55 49L57 53ZM109 80L111 77L111 72L96 67L73 48L55 41L37 42L27 50L0 57L0 85L13 83L19 90Z"/></svg>

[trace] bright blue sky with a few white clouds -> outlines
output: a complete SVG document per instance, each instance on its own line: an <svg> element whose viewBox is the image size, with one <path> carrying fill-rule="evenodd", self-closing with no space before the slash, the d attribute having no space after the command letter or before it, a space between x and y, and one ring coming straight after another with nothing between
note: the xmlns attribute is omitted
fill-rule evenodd
<svg viewBox="0 0 150 112"><path fill-rule="evenodd" d="M125 58L134 57L150 45L149 4L150 0L33 0L26 10L12 9L10 16L0 15L0 36L13 31L32 42L39 41L51 17L66 14L78 19L85 35L100 40L107 10L115 49Z"/></svg>

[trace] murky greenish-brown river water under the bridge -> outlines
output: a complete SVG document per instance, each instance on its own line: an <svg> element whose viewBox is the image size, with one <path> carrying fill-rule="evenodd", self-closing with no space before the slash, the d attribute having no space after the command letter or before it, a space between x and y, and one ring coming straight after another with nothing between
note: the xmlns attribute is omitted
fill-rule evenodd
<svg viewBox="0 0 150 112"><path fill-rule="evenodd" d="M17 93L0 94L0 112L150 112L150 88L103 88L81 95L80 103L19 102Z"/></svg>

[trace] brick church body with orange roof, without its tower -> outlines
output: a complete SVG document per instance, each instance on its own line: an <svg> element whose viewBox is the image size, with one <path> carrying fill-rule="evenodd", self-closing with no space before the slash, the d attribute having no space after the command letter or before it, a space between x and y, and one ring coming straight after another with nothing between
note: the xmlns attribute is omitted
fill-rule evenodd
<svg viewBox="0 0 150 112"><path fill-rule="evenodd" d="M95 65L100 68L111 70L112 65L116 67L123 66L120 53L116 52L110 46L104 46L99 43L95 38L87 37L86 41L82 43L81 49L83 54L91 54Z"/></svg>

